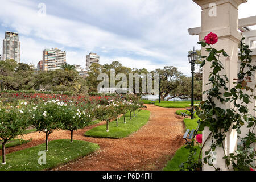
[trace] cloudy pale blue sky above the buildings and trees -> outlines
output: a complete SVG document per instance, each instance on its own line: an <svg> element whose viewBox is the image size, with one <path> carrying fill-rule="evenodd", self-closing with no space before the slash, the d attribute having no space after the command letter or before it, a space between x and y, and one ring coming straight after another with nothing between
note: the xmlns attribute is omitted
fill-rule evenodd
<svg viewBox="0 0 256 182"><path fill-rule="evenodd" d="M46 5L46 16L40 14ZM21 61L37 64L44 48L67 52L69 64L85 67L90 52L100 63L119 61L153 70L173 65L190 75L187 52L201 26L201 9L192 0L0 0L0 42L5 31L19 33ZM41 6L42 7L42 6ZM240 18L256 15L256 1L240 6ZM0 43L2 54L2 43Z"/></svg>

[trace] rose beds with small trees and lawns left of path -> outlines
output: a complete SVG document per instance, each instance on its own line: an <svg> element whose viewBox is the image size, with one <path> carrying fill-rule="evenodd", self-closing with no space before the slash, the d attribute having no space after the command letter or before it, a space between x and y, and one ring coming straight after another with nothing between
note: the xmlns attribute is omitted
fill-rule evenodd
<svg viewBox="0 0 256 182"><path fill-rule="evenodd" d="M121 97L2 92L0 96L0 170L52 169L99 150L96 143L73 140L77 130L105 121L105 125L85 135L123 138L140 129L150 117L150 111L142 110L143 103L134 94ZM69 139L49 141L57 130L68 131ZM22 136L36 131L45 135L44 144L6 154L6 148L29 143ZM38 162L42 151L47 152L45 165Z"/></svg>

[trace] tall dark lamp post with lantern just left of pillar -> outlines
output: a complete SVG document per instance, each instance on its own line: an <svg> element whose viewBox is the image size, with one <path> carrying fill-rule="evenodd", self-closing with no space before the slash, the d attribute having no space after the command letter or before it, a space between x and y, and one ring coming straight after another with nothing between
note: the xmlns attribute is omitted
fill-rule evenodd
<svg viewBox="0 0 256 182"><path fill-rule="evenodd" d="M197 52L195 51L195 47L193 51L188 53L188 62L191 64L191 73L192 73L192 81L191 81L191 119L194 119L194 73L195 73L195 61L197 60Z"/></svg>

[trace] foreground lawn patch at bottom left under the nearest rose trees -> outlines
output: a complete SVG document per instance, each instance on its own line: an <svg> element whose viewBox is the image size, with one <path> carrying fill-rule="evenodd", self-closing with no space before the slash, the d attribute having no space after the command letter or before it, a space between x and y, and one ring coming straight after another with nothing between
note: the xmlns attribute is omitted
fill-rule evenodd
<svg viewBox="0 0 256 182"><path fill-rule="evenodd" d="M6 164L0 164L0 171L39 171L52 169L82 156L91 154L100 146L95 143L73 140L53 140L49 142L49 151L46 152L46 164L38 164L39 151L45 150L45 144L27 148L22 151L6 155ZM2 157L0 158L2 161Z"/></svg>

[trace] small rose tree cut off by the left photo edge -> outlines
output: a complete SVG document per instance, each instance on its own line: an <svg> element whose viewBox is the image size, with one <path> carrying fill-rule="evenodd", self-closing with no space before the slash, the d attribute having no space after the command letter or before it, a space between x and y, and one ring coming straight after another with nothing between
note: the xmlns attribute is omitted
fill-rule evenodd
<svg viewBox="0 0 256 182"><path fill-rule="evenodd" d="M23 134L29 126L26 108L0 108L0 138L2 142L2 163L6 164L5 144L9 140Z"/></svg>

